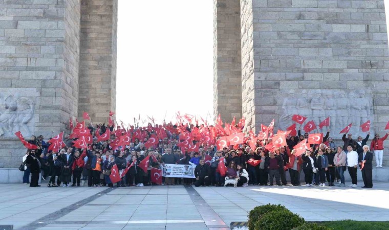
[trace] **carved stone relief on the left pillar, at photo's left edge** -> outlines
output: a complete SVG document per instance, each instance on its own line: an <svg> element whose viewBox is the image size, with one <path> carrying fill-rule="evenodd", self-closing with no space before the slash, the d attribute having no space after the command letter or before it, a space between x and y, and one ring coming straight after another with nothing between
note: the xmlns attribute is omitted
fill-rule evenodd
<svg viewBox="0 0 389 230"><path fill-rule="evenodd" d="M22 131L30 136L28 123L34 116L34 103L20 94L0 94L0 136L13 136Z"/></svg>

